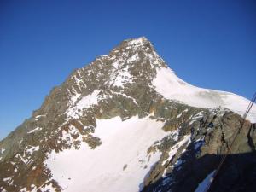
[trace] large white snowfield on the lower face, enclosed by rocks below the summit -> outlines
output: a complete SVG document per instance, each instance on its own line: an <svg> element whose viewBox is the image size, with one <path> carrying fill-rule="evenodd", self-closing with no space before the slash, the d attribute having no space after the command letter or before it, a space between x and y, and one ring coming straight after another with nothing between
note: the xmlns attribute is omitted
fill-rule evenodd
<svg viewBox="0 0 256 192"><path fill-rule="evenodd" d="M53 151L45 164L63 191L139 191L143 177L160 158L160 153L147 154L147 150L167 135L163 125L148 117L97 119L94 135L102 145Z"/></svg>

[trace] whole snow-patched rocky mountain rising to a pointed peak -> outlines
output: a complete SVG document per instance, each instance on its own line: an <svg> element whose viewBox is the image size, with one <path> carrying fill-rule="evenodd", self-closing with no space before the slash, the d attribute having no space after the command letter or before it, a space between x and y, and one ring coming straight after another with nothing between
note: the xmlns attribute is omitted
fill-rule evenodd
<svg viewBox="0 0 256 192"><path fill-rule="evenodd" d="M75 70L0 142L0 190L195 191L243 124L243 109L223 98L246 102L183 82L146 38L126 40ZM225 167L236 174L212 191L253 189L241 177L255 178L255 128L246 121Z"/></svg>

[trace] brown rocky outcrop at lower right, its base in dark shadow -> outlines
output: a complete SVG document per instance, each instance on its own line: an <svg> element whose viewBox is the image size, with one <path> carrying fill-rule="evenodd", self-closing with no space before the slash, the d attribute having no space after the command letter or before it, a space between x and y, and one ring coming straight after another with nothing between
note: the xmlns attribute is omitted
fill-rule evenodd
<svg viewBox="0 0 256 192"><path fill-rule="evenodd" d="M209 191L253 191L256 153L255 142L252 142L255 136L251 137L251 132L255 124L244 122L236 113L222 113L205 113L191 125L180 127L183 131L179 137L183 139L190 134L191 140L181 145L177 145L179 140L168 143L164 151L176 146L177 153L172 158L163 153L145 178L143 191L195 191L198 184L217 169L237 131L239 135Z"/></svg>

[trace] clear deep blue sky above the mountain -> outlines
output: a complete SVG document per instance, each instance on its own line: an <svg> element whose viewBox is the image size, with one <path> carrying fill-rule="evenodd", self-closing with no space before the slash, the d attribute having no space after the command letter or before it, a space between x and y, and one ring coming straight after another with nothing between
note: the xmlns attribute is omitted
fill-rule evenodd
<svg viewBox="0 0 256 192"><path fill-rule="evenodd" d="M0 139L74 68L147 37L190 84L250 98L256 1L0 1Z"/></svg>

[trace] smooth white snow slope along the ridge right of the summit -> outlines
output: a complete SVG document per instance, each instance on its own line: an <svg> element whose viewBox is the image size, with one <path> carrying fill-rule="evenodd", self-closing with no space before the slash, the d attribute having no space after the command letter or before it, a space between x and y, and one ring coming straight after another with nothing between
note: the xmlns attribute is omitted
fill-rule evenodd
<svg viewBox="0 0 256 192"><path fill-rule="evenodd" d="M179 79L170 69L161 67L157 69L156 78L153 79L154 90L166 99L177 100L197 108L229 108L231 111L243 115L250 101L242 96L218 90L207 90L195 87ZM247 115L252 123L256 122L256 105Z"/></svg>

